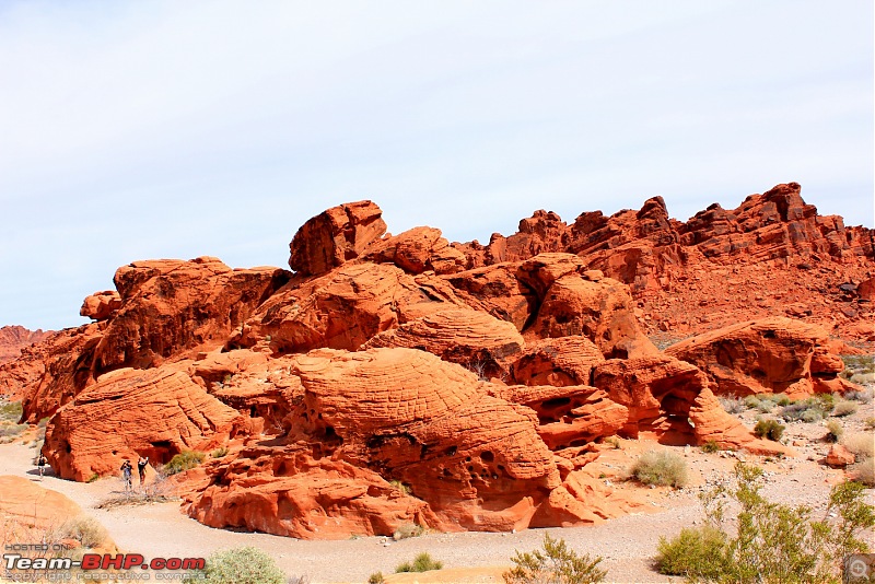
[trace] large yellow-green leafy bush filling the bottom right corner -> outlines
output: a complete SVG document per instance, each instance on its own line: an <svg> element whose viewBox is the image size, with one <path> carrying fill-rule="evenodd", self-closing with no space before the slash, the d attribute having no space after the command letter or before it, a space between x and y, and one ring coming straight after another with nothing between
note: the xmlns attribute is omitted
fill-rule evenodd
<svg viewBox="0 0 875 584"><path fill-rule="evenodd" d="M832 488L826 517L813 521L806 506L772 503L760 494L762 470L738 463L735 484L700 495L705 525L662 538L656 567L691 582L832 582L843 559L865 552L862 536L875 526L875 507L864 501L863 486ZM726 504L739 507L734 528L726 528Z"/></svg>

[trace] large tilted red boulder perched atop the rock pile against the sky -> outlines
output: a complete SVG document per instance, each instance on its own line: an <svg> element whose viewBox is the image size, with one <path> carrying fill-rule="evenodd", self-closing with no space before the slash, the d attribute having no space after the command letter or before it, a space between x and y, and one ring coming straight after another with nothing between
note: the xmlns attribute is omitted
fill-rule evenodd
<svg viewBox="0 0 875 584"><path fill-rule="evenodd" d="M358 257L386 232L382 214L373 202L359 201L314 217L289 244L289 267L303 276L317 276Z"/></svg>

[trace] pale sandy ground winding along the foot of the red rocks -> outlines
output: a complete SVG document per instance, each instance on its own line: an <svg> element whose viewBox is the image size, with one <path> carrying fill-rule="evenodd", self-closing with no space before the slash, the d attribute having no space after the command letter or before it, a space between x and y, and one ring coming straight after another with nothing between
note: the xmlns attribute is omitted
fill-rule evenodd
<svg viewBox="0 0 875 584"><path fill-rule="evenodd" d="M743 416L752 425L752 412ZM862 431L862 420L873 416L873 405L867 405L845 420L851 431ZM822 424L794 423L785 432L789 444L797 443L800 456L786 459L765 459L747 455L767 471L765 494L773 501L822 509L831 484L843 474L817 463L829 449L821 442L826 433ZM872 434L872 432L870 432ZM682 527L701 521L698 493L708 483L730 476L736 458L728 453L704 454L697 447L673 448L682 454L691 469L690 486L680 490L646 489L620 477L626 468L644 449L662 446L621 441L620 448L605 451L593 463L605 480L618 489L633 490L652 509L610 519L594 527L547 529L552 536L563 538L572 549L602 556L600 567L607 569L610 582L680 582L660 575L651 569L660 536L672 537ZM21 443L0 445L0 475L19 475L39 480L32 465L34 451ZM116 507L108 511L95 506L113 492L121 489L118 479L102 479L93 483L78 483L46 476L43 487L59 491L78 502L97 518L109 532L120 549L153 557L206 557L219 549L255 546L272 556L290 575L305 575L312 583L365 582L377 571L388 575L397 564L411 560L417 553L428 551L447 569L479 568L477 571L443 571L441 582L501 582L501 567L510 567L515 550L538 548L545 529L529 529L516 534L425 534L420 537L392 541L384 537L368 537L342 541L303 541L266 534L237 533L206 527L179 513L178 503L161 503ZM875 491L867 491L867 500L875 503ZM875 544L875 541L873 541ZM389 582L432 582L430 575L409 574L392 576Z"/></svg>

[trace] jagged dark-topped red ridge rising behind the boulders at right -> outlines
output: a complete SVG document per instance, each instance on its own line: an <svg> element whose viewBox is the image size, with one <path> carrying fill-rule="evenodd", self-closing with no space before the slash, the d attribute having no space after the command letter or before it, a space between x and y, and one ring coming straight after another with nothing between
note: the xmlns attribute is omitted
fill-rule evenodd
<svg viewBox="0 0 875 584"><path fill-rule="evenodd" d="M654 197L640 211L586 212L571 225L538 211L518 233L494 234L486 247L454 245L478 267L575 254L631 285L651 335L676 339L786 311L848 339L875 341L858 331L861 319L875 330L863 284L875 276L875 232L818 215L796 183L751 195L734 210L712 205L686 223L669 219ZM843 282L860 283L859 292L840 290Z"/></svg>

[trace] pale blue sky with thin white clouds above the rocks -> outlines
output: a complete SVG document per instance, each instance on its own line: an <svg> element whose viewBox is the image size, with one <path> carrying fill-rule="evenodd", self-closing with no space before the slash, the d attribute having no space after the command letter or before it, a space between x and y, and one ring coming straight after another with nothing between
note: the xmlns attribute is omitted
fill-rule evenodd
<svg viewBox="0 0 875 584"><path fill-rule="evenodd" d="M287 267L371 199L450 241L780 183L873 226L873 2L0 0L0 325L138 259Z"/></svg>

